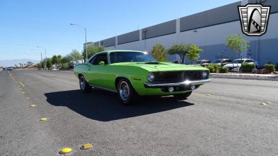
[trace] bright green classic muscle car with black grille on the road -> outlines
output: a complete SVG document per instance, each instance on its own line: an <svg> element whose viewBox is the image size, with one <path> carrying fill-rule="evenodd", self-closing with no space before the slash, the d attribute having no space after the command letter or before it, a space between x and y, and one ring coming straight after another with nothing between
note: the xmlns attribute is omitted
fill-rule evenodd
<svg viewBox="0 0 278 156"><path fill-rule="evenodd" d="M157 62L146 52L124 50L97 53L87 62L77 64L74 74L82 92L92 87L117 92L124 105L139 96L173 95L183 100L210 81L204 67Z"/></svg>

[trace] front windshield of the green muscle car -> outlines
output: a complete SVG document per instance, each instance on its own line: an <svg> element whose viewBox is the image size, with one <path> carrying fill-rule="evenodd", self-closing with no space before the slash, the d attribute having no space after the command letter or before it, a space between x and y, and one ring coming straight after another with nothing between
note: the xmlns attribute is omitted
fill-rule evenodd
<svg viewBox="0 0 278 156"><path fill-rule="evenodd" d="M110 62L157 62L151 55L143 52L122 51L110 53Z"/></svg>

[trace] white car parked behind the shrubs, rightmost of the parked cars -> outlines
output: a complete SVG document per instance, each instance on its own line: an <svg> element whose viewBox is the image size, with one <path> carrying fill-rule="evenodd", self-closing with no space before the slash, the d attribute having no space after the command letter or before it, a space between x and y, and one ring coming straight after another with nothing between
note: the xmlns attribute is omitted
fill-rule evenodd
<svg viewBox="0 0 278 156"><path fill-rule="evenodd" d="M242 59L236 59L233 62L224 65L224 67L227 67L229 71L241 71L242 63L255 64L256 68L259 66L258 62L256 62L255 60L252 60L250 58L242 58Z"/></svg>

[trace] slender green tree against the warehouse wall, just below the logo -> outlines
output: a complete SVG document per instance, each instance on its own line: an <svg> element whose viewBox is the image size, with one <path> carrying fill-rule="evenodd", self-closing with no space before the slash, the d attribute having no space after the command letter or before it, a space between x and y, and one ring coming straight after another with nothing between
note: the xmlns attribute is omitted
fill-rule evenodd
<svg viewBox="0 0 278 156"><path fill-rule="evenodd" d="M245 40L240 34L232 34L225 37L226 46L236 53L236 58L238 58L238 53L242 53L249 48L249 42Z"/></svg>

